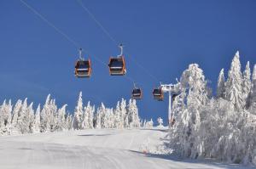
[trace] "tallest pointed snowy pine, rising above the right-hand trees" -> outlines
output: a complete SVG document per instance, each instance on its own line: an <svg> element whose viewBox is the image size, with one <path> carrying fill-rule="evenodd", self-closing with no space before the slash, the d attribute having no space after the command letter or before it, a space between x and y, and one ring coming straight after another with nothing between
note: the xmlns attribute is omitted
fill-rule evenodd
<svg viewBox="0 0 256 169"><path fill-rule="evenodd" d="M231 62L229 76L225 86L225 99L229 100L234 105L235 110L241 110L244 107L244 101L241 87L241 64L238 51Z"/></svg>

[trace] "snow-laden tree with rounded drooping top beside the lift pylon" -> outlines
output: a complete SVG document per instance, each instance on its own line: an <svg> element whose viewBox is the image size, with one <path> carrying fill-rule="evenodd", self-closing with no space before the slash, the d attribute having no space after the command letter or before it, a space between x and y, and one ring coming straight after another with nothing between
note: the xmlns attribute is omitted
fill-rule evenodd
<svg viewBox="0 0 256 169"><path fill-rule="evenodd" d="M174 149L183 156L195 158L198 153L198 128L201 126L201 119L205 118L201 110L207 104L207 81L203 71L197 64L189 65L188 70L183 71L180 79L182 93L187 93L184 98L186 107L180 114L180 118L174 127L173 139ZM179 142L180 144L177 144Z"/></svg>

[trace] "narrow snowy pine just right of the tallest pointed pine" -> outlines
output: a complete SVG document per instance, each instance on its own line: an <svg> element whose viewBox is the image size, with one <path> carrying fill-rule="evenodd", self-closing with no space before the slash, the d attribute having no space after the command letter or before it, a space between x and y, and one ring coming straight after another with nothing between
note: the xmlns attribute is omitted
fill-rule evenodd
<svg viewBox="0 0 256 169"><path fill-rule="evenodd" d="M248 107L249 103L249 93L251 92L252 82L251 82L251 69L250 62L247 61L246 69L243 72L243 81L242 81L242 94L243 94L243 105Z"/></svg>

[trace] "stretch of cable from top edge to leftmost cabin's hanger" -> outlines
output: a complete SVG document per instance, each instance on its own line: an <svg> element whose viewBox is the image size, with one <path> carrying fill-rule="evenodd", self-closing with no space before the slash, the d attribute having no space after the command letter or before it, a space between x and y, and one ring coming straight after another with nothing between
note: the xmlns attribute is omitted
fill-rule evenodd
<svg viewBox="0 0 256 169"><path fill-rule="evenodd" d="M37 14L39 18L41 18L42 20L44 20L45 23L47 23L49 26L51 26L52 28L55 29L55 31L59 32L63 37L65 37L67 39L67 41L73 43L73 45L76 48L80 48L80 45L78 42L75 42L71 37L68 37L66 33L64 33L63 31L61 31L59 28L57 28L54 24L52 24L49 20L47 20L42 14L40 14L38 12L38 10L36 10L35 8L32 8L32 6L30 6L28 3L26 3L23 0L20 0L21 3L23 3L26 8L29 8L34 14Z"/></svg>

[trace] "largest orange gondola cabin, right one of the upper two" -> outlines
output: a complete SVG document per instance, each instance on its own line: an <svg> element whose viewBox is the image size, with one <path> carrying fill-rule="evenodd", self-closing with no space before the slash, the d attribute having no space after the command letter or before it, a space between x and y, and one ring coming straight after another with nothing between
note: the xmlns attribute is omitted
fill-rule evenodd
<svg viewBox="0 0 256 169"><path fill-rule="evenodd" d="M110 58L108 67L111 76L124 76L126 73L124 56Z"/></svg>

